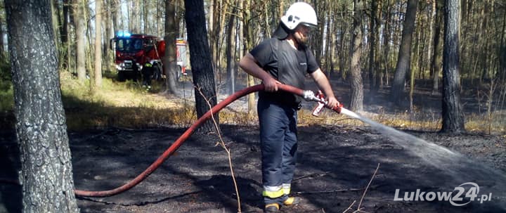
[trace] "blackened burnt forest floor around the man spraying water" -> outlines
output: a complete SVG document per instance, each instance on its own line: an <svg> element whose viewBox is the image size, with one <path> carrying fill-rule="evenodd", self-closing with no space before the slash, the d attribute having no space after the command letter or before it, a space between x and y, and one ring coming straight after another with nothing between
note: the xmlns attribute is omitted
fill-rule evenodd
<svg viewBox="0 0 506 213"><path fill-rule="evenodd" d="M346 86L335 85L335 89L344 93ZM386 96L380 93L375 104L366 101L365 110L391 108L386 101L380 101ZM440 105L438 96L419 96L418 100L426 103L424 108ZM344 103L347 98L339 97ZM238 108L243 105L237 103ZM185 130L111 127L70 131L76 188L103 191L121 186L154 162ZM240 209L262 212L258 127L221 125L221 130L231 148ZM369 126L299 126L292 193L302 202L283 207L282 212L345 212L350 206L346 212L354 212L359 203L363 212L506 212L506 136L406 132L420 139L395 138L391 132ZM216 135L194 134L131 190L108 198L78 198L81 212L238 212L228 157L221 146L216 146L217 141ZM0 179L17 177L18 156L15 132L1 130ZM466 198L467 193L473 194L470 187L474 185L469 182L479 186L474 201ZM454 200L453 204L437 198L394 200L412 192L424 199L431 192L455 195L455 187L461 185L464 193L458 197L464 199ZM424 195L417 196L417 190ZM490 199L483 199L483 195ZM0 212L20 212L20 198L20 186L0 183Z"/></svg>

